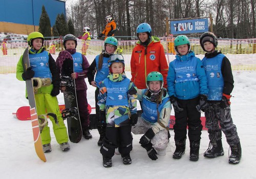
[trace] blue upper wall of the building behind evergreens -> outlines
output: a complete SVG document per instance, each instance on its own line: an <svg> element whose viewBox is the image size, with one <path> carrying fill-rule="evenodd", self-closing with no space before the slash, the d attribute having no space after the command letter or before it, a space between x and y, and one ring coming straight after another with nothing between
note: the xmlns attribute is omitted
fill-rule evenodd
<svg viewBox="0 0 256 179"><path fill-rule="evenodd" d="M39 26L42 6L50 17L51 26L55 24L57 14L66 16L65 2L58 0L0 0L0 21L8 23Z"/></svg>

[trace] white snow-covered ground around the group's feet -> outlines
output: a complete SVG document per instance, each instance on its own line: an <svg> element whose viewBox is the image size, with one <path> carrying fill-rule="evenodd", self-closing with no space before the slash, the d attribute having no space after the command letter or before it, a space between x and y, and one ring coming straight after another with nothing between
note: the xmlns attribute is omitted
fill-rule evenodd
<svg viewBox="0 0 256 179"><path fill-rule="evenodd" d="M131 78L131 73L126 73ZM228 164L228 148L223 134L224 156L205 159L203 152L208 147L207 131L202 131L200 159L189 161L189 142L182 159L174 160L174 132L165 156L157 161L148 158L140 147L141 135L134 135L133 163L122 164L121 156L113 157L113 167L102 166L102 156L97 146L99 135L92 130L93 139L82 139L78 144L70 143L71 149L62 152L53 131L52 152L46 153L47 162L37 157L32 137L30 121L19 121L12 113L20 106L28 105L25 98L25 82L18 81L15 74L0 75L2 99L0 100L2 119L0 120L0 177L1 178L256 178L256 71L233 71L234 90L231 98L231 114L242 144L242 160L238 165ZM87 79L86 79L87 81ZM88 81L87 81L88 82ZM63 104L62 95L58 95ZM94 88L89 85L89 103L94 106ZM172 111L173 114L173 111ZM49 122L51 127L51 122Z"/></svg>

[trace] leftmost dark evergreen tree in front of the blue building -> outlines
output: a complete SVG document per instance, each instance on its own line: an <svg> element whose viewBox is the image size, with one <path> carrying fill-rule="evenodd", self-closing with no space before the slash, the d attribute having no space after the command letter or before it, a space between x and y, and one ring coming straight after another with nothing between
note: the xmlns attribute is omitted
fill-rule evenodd
<svg viewBox="0 0 256 179"><path fill-rule="evenodd" d="M38 30L44 37L51 37L51 22L49 15L46 12L45 6L42 6L42 13L39 19L39 30Z"/></svg>

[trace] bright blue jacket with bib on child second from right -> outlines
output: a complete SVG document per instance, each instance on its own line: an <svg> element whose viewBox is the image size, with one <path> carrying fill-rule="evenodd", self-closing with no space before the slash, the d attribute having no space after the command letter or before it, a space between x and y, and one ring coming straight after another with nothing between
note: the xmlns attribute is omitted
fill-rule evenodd
<svg viewBox="0 0 256 179"><path fill-rule="evenodd" d="M205 70L193 51L183 56L176 55L176 59L170 62L167 86L169 96L174 95L181 100L193 99L200 94L207 96Z"/></svg>

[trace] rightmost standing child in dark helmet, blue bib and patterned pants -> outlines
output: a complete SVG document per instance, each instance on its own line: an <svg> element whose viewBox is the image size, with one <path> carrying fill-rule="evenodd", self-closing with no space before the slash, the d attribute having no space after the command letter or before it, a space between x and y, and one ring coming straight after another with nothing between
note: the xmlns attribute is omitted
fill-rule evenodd
<svg viewBox="0 0 256 179"><path fill-rule="evenodd" d="M209 88L205 126L208 128L210 143L209 148L204 152L204 157L216 158L224 155L221 141L221 131L223 131L231 148L228 162L238 164L241 160L242 149L237 127L233 124L230 115L230 94L234 87L231 64L225 55L215 50L218 40L213 33L203 33L200 37L200 44L206 52L202 63L206 70Z"/></svg>

